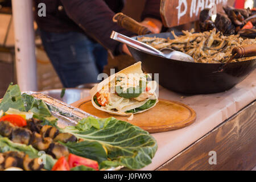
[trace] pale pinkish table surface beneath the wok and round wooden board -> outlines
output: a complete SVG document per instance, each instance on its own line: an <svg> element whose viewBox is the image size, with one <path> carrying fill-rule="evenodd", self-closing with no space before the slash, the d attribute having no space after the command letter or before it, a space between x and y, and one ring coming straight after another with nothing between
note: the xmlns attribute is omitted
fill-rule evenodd
<svg viewBox="0 0 256 182"><path fill-rule="evenodd" d="M187 97L184 94L160 88L159 98L187 104L196 111L197 119L192 125L183 129L152 134L158 143L158 150L152 163L141 170L154 170L162 166L225 119L254 101L256 98L256 70L240 84L226 92Z"/></svg>

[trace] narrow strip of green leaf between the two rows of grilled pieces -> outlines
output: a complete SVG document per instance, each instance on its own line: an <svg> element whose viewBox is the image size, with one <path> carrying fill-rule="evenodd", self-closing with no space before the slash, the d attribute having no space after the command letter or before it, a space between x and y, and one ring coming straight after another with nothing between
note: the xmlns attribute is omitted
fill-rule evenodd
<svg viewBox="0 0 256 182"><path fill-rule="evenodd" d="M31 145L27 146L26 144L21 143L14 143L8 138L3 138L0 135L0 152L7 152L7 151L19 151L24 152L30 158L39 158L42 155L39 155L39 151L36 150ZM56 163L57 160L53 159L51 155L45 154L46 164L44 168L47 170L51 170L53 165Z"/></svg>

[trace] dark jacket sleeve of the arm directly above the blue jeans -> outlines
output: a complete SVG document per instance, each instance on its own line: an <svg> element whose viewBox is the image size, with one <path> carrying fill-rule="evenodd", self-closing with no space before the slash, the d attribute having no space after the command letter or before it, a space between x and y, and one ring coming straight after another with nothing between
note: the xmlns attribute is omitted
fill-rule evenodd
<svg viewBox="0 0 256 182"><path fill-rule="evenodd" d="M134 35L112 21L114 13L102 0L61 0L61 3L69 18L114 55L121 53L121 44L109 38L112 31L127 36Z"/></svg>

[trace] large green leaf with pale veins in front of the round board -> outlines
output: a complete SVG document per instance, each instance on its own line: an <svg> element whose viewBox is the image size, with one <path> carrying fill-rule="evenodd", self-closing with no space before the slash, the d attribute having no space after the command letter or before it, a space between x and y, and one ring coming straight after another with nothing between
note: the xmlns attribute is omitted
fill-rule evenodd
<svg viewBox="0 0 256 182"><path fill-rule="evenodd" d="M86 118L79 127L70 126L63 132L71 133L88 142L98 142L108 150L108 158L115 164L130 169L140 169L151 163L157 150L156 140L147 131L115 118L97 119L98 125L92 127L95 118ZM85 125L82 127L81 125ZM90 127L88 127L90 125ZM96 124L93 124L96 126ZM86 153L86 152L84 152Z"/></svg>

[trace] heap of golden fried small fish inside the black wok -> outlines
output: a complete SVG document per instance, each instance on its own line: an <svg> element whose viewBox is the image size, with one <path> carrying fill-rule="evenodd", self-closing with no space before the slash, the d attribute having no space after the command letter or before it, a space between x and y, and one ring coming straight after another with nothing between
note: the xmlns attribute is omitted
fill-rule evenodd
<svg viewBox="0 0 256 182"><path fill-rule="evenodd" d="M234 47L256 44L256 38L243 39L240 35L224 36L221 32L217 32L215 28L200 33L195 33L193 29L182 32L184 35L177 36L172 31L174 39L143 36L138 40L159 50L172 48L187 53L187 55L193 57L196 63L226 63L232 56ZM254 59L254 57L235 59L233 62L249 59Z"/></svg>

